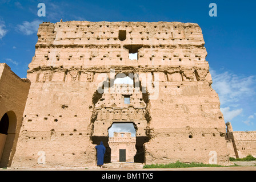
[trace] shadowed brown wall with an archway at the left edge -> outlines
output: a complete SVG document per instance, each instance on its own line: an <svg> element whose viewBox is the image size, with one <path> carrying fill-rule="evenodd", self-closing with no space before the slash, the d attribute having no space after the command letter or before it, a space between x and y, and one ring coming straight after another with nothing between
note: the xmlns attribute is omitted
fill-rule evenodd
<svg viewBox="0 0 256 182"><path fill-rule="evenodd" d="M29 88L29 79L18 77L7 64L0 63L0 120L5 114L8 118L7 127L0 129L0 167L10 166L13 159Z"/></svg>

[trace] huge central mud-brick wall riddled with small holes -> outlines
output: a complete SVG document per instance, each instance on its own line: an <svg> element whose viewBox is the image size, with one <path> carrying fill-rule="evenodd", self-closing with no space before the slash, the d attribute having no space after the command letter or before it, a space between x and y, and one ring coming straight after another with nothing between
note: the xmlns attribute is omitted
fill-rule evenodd
<svg viewBox="0 0 256 182"><path fill-rule="evenodd" d="M46 165L95 164L94 146L113 121L133 122L137 138L147 138L146 164L209 163L210 151L225 162L225 122L204 44L195 23L42 23L13 166L37 165L38 151L45 152ZM130 60L135 52L138 60ZM113 106L121 96L97 92L99 74L110 76L110 69L149 73L156 88L159 75L158 97L141 89L131 98L142 107Z"/></svg>

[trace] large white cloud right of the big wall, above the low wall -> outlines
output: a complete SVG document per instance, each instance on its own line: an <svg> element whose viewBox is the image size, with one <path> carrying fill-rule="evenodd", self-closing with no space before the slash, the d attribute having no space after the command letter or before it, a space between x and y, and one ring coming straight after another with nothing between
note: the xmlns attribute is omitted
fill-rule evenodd
<svg viewBox="0 0 256 182"><path fill-rule="evenodd" d="M218 93L221 111L225 121L231 121L247 110L245 103L254 99L256 91L256 76L238 76L230 72L217 73L210 70L213 78L213 89ZM243 106L241 106L243 105ZM241 108L245 107L245 108ZM244 117L244 115L242 115ZM243 118L246 125L253 125L250 120L254 116Z"/></svg>

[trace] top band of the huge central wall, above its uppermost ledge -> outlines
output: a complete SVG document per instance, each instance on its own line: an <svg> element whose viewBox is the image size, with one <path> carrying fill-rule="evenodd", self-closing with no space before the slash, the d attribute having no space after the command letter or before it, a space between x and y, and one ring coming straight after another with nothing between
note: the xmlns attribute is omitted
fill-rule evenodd
<svg viewBox="0 0 256 182"><path fill-rule="evenodd" d="M74 43L200 46L205 42L197 23L69 21L42 23L39 26L37 45Z"/></svg>

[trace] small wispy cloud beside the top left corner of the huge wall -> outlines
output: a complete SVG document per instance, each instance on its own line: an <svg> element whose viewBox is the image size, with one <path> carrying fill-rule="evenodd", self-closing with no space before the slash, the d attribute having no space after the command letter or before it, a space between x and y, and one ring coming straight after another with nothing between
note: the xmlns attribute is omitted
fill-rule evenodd
<svg viewBox="0 0 256 182"><path fill-rule="evenodd" d="M34 20L33 22L23 22L22 24L17 25L17 30L25 35L32 35L37 33L39 24L41 24L41 20Z"/></svg>

